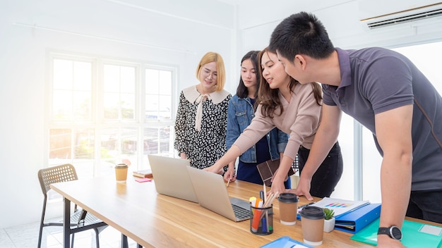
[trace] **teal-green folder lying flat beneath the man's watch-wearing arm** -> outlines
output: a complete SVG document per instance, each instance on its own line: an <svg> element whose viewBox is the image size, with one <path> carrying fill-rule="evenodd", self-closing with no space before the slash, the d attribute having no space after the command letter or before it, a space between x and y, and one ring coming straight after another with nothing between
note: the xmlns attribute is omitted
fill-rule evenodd
<svg viewBox="0 0 442 248"><path fill-rule="evenodd" d="M379 218L354 234L350 239L367 244L377 244ZM407 248L440 248L442 227L405 220L402 225L402 244Z"/></svg>

